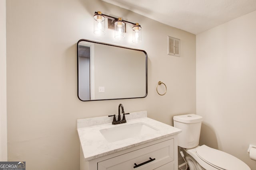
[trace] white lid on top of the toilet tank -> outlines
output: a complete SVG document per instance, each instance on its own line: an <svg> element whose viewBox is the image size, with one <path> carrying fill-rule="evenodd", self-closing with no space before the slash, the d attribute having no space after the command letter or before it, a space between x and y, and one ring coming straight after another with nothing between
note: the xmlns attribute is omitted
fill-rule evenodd
<svg viewBox="0 0 256 170"><path fill-rule="evenodd" d="M198 123L202 122L203 117L196 114L178 115L173 117L174 121L182 123Z"/></svg>

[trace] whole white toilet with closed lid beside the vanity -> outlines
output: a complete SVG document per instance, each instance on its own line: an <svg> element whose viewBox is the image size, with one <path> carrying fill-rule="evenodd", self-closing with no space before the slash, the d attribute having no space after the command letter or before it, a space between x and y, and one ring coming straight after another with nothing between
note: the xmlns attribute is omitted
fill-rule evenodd
<svg viewBox="0 0 256 170"><path fill-rule="evenodd" d="M190 170L250 170L240 159L217 149L199 146L202 117L188 114L173 117L178 134L178 146L188 153L186 161Z"/></svg>

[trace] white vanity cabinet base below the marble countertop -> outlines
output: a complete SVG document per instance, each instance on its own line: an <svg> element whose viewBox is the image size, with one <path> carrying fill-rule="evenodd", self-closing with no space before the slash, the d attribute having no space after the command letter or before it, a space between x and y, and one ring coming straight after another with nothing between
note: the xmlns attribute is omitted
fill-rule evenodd
<svg viewBox="0 0 256 170"><path fill-rule="evenodd" d="M177 148L174 135L89 161L81 153L80 170L177 170Z"/></svg>

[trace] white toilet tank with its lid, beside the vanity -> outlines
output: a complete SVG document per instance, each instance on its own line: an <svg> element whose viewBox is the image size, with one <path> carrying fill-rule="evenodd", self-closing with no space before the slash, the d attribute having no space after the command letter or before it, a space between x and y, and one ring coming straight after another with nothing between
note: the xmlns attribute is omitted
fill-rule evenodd
<svg viewBox="0 0 256 170"><path fill-rule="evenodd" d="M174 127L182 130L178 134L178 146L190 149L199 145L202 119L202 116L195 114L173 117Z"/></svg>

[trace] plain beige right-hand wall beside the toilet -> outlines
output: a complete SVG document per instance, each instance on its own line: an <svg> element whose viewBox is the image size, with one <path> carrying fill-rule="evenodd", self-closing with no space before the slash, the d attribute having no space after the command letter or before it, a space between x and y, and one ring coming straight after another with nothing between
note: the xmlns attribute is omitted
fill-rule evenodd
<svg viewBox="0 0 256 170"><path fill-rule="evenodd" d="M228 152L256 170L256 11L196 35L196 111L201 144Z"/></svg>

